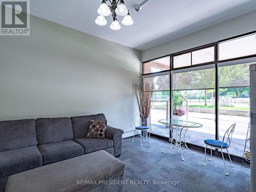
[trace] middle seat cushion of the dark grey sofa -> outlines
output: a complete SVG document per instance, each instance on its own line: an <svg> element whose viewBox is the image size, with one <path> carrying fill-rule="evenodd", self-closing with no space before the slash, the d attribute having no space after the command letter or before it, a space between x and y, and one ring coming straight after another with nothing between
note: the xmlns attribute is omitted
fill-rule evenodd
<svg viewBox="0 0 256 192"><path fill-rule="evenodd" d="M83 147L73 140L38 145L42 164L53 163L83 155Z"/></svg>

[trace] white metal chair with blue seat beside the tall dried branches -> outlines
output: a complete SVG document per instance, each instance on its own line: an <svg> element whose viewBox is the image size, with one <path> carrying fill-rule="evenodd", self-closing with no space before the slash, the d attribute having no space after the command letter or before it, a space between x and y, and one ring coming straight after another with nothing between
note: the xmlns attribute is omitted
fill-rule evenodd
<svg viewBox="0 0 256 192"><path fill-rule="evenodd" d="M142 138L143 138L143 140L145 138L144 136L142 136L143 131L148 131L149 132L149 137L148 137L149 142L148 143L151 143L150 142L150 127L145 126L144 116L141 113L134 113L133 122L134 122L135 130L134 130L134 135L133 135L132 142L134 142L135 132L138 130L138 131L140 131L140 146L142 146L142 143L141 143Z"/></svg>

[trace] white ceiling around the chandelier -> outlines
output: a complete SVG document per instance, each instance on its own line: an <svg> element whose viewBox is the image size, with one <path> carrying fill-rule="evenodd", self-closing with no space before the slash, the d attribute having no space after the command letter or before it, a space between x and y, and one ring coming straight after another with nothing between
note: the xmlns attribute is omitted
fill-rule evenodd
<svg viewBox="0 0 256 192"><path fill-rule="evenodd" d="M124 2L134 25L120 24L119 31L110 29L111 16L106 17L106 26L95 24L101 0L33 0L30 12L84 33L145 50L256 9L255 0L150 0L138 13L134 7L143 0Z"/></svg>

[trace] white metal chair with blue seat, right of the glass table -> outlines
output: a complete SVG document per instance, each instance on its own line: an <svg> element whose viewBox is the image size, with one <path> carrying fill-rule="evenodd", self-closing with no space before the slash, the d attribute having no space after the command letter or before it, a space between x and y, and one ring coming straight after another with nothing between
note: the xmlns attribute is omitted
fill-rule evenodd
<svg viewBox="0 0 256 192"><path fill-rule="evenodd" d="M205 165L205 160L206 160L206 148L207 146L210 146L210 158L212 156L212 151L211 151L211 148L218 148L221 150L221 155L222 155L222 159L223 159L223 162L224 162L224 166L225 166L225 174L228 176L229 174L227 173L227 168L226 168L226 163L225 163L225 160L224 160L224 156L223 156L223 151L222 150L227 150L227 154L228 154L228 157L229 157L229 160L231 162L231 167L233 167L233 163L232 163L232 160L230 158L230 155L228 153L228 147L230 146L230 143L231 143L231 140L232 140L232 134L234 132L234 128L236 127L236 123L232 124L228 130L226 131L226 133L224 134L223 136L223 139L222 141L219 141L219 140L213 140L213 139L206 139L204 140L204 144L206 145L205 146L205 150L204 150L204 153L205 153L205 159L204 159L204 163L202 165ZM226 138L227 137L227 138ZM225 139L226 138L226 139ZM224 142L225 141L225 142ZM211 161L211 159L208 159L209 161Z"/></svg>

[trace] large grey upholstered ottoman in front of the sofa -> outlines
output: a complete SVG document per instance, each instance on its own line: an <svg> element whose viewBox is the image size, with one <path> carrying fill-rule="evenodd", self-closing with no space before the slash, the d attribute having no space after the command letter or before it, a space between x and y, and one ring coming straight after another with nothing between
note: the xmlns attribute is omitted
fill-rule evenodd
<svg viewBox="0 0 256 192"><path fill-rule="evenodd" d="M6 192L123 191L123 174L123 162L101 150L12 175Z"/></svg>

